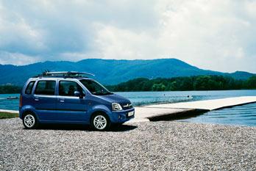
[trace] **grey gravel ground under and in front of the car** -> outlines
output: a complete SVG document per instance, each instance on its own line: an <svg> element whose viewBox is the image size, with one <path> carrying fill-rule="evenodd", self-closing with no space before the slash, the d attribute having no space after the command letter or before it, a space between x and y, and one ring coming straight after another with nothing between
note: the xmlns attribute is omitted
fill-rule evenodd
<svg viewBox="0 0 256 171"><path fill-rule="evenodd" d="M255 149L256 127L163 121L96 132L0 120L0 170L256 170Z"/></svg>

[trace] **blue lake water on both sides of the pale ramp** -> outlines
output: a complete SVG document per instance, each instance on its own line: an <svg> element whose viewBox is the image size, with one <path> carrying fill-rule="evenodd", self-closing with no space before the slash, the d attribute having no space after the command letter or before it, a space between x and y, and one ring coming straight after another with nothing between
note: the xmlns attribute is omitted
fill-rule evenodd
<svg viewBox="0 0 256 171"><path fill-rule="evenodd" d="M181 101L201 101L217 98L256 95L256 90L224 90L224 91L175 91L175 92L116 92L132 101L134 106L150 103L175 103ZM7 100L9 96L18 94L0 95L0 109L18 110L18 99ZM220 109L207 112L197 117L181 120L195 123L219 123L256 126L256 103L235 106L230 109Z"/></svg>

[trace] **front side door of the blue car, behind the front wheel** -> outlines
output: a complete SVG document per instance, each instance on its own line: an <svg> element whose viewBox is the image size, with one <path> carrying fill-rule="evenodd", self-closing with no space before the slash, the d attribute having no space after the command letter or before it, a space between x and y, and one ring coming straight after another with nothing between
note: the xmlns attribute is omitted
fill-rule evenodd
<svg viewBox="0 0 256 171"><path fill-rule="evenodd" d="M82 96L75 96L75 91L79 91ZM59 81L56 108L62 121L88 123L87 107L85 91L77 81Z"/></svg>

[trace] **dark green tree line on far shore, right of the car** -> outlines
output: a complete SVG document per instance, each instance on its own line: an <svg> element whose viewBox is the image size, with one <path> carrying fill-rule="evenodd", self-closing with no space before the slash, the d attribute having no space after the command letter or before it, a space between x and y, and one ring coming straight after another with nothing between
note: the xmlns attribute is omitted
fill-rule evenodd
<svg viewBox="0 0 256 171"><path fill-rule="evenodd" d="M256 76L247 80L231 76L189 76L171 79L132 79L121 84L107 86L113 92L134 91L185 91L185 90L245 90L256 89Z"/></svg>

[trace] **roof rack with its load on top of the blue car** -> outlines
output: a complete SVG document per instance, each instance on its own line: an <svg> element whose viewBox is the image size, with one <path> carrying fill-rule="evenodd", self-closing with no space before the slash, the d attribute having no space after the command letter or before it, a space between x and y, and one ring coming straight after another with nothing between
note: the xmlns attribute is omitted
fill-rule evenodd
<svg viewBox="0 0 256 171"><path fill-rule="evenodd" d="M43 72L36 77L64 77L64 78L87 78L87 76L95 76L93 73L77 72L77 71L57 71L57 72Z"/></svg>

